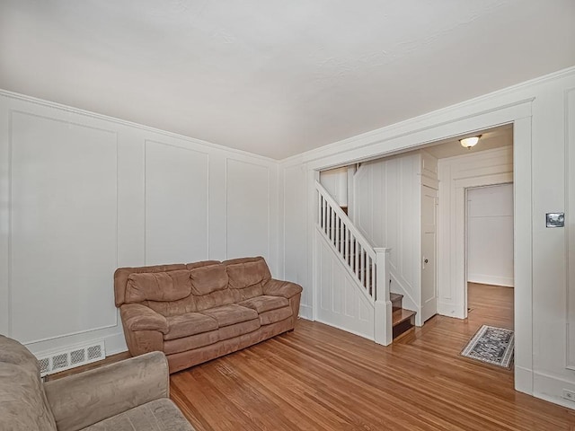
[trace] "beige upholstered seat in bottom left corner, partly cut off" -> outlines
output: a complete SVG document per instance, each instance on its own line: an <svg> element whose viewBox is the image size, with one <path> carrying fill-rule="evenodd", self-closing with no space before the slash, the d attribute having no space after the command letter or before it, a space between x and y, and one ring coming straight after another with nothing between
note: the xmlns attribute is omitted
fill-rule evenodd
<svg viewBox="0 0 575 431"><path fill-rule="evenodd" d="M36 357L0 336L2 431L193 431L169 395L163 353L42 383Z"/></svg>

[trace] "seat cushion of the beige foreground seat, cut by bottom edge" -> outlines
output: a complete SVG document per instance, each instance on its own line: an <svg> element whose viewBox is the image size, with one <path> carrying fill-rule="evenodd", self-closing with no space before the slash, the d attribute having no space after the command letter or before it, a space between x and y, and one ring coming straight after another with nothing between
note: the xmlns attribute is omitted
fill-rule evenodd
<svg viewBox="0 0 575 431"><path fill-rule="evenodd" d="M84 428L87 431L134 431L135 429L138 431L194 430L173 401L167 398L146 402L146 404Z"/></svg>

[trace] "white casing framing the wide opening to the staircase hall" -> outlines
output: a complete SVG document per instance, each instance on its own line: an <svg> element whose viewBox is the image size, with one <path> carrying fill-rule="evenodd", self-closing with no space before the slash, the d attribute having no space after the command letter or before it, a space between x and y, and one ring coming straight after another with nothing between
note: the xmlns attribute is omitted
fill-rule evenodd
<svg viewBox="0 0 575 431"><path fill-rule="evenodd" d="M485 109L474 106L462 114L450 110L443 118L433 117L429 122L413 119L391 128L383 128L299 157L307 169L307 229L314 232L317 211L314 202L314 177L319 171L352 163L367 162L379 157L422 149L426 145L454 136L472 135L487 128L513 124L514 220L513 254L515 268L514 327L515 327L515 389L533 393L533 208L532 208L532 104L534 98L507 103L495 103ZM509 182L509 180L502 180ZM441 199L441 197L439 197ZM441 201L440 201L441 205ZM310 283L312 310L317 306L317 284L314 271L317 258L314 253L314 235L308 235L308 256L311 259ZM438 289L440 286L438 286ZM439 292L438 292L439 293ZM439 293L440 294L440 293Z"/></svg>

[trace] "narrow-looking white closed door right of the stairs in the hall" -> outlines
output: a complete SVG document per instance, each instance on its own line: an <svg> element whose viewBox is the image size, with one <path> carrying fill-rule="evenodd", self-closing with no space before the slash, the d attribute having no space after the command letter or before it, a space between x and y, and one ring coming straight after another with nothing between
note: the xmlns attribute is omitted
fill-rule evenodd
<svg viewBox="0 0 575 431"><path fill-rule="evenodd" d="M436 241L438 190L421 186L421 321L438 313Z"/></svg>

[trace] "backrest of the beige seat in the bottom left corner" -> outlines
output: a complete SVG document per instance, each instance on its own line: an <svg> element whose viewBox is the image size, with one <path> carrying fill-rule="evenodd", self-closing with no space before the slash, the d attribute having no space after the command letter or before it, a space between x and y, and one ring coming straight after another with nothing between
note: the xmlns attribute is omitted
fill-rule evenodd
<svg viewBox="0 0 575 431"><path fill-rule="evenodd" d="M56 431L36 357L18 341L1 335L0 429Z"/></svg>

